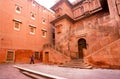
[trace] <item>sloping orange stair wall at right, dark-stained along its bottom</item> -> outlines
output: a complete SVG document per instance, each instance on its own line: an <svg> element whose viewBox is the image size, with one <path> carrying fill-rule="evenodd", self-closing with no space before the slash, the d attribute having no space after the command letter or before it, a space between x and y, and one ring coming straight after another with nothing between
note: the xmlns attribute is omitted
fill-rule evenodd
<svg viewBox="0 0 120 79"><path fill-rule="evenodd" d="M85 57L95 67L120 68L120 39Z"/></svg>

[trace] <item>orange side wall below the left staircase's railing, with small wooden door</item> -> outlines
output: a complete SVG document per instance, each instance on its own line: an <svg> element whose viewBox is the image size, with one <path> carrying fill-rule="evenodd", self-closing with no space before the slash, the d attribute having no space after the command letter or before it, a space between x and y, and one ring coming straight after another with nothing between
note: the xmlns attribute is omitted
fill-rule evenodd
<svg viewBox="0 0 120 79"><path fill-rule="evenodd" d="M70 60L69 56L66 56L53 48L47 48L43 51L43 63L45 64L64 64Z"/></svg>

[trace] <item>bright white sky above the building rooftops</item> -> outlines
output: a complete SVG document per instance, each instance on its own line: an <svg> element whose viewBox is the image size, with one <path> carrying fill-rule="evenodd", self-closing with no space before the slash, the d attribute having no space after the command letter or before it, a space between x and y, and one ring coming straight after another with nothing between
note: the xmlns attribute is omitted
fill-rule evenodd
<svg viewBox="0 0 120 79"><path fill-rule="evenodd" d="M50 9L54 4L56 0L35 0L39 4L45 6L46 8ZM74 0L69 0L70 2L73 2Z"/></svg>

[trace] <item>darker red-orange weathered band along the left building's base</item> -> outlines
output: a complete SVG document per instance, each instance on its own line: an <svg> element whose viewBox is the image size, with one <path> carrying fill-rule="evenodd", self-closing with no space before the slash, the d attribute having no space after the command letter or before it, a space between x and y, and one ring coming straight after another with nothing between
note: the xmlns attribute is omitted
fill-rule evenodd
<svg viewBox="0 0 120 79"><path fill-rule="evenodd" d="M8 61L7 59L7 51L12 51L13 52L13 56L10 56L9 58L13 58L12 61ZM14 50L14 51L13 51ZM33 50L25 50L25 49L1 49L0 50L0 63L30 63L30 57L31 55L34 55L35 57L35 52ZM42 61L42 54L41 51L37 51L39 52L39 59L35 59L35 63L41 62Z"/></svg>

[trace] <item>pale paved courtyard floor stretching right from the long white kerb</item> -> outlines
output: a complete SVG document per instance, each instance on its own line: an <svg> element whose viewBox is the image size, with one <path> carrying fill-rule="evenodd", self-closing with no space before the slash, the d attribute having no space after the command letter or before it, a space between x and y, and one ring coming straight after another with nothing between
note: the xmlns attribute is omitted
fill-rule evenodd
<svg viewBox="0 0 120 79"><path fill-rule="evenodd" d="M76 69L43 64L17 64L17 66L67 79L120 79L120 70Z"/></svg>

